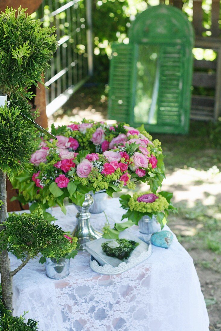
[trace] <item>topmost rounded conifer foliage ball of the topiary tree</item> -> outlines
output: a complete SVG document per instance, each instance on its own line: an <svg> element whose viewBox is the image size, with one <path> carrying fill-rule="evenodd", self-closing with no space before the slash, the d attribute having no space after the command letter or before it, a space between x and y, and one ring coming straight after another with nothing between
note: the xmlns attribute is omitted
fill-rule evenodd
<svg viewBox="0 0 221 331"><path fill-rule="evenodd" d="M42 82L42 71L56 51L55 28L41 27L39 20L26 16L25 9L8 7L0 14L0 90L10 96L28 98L32 84Z"/></svg>

